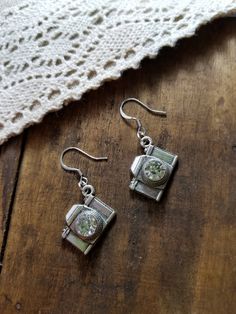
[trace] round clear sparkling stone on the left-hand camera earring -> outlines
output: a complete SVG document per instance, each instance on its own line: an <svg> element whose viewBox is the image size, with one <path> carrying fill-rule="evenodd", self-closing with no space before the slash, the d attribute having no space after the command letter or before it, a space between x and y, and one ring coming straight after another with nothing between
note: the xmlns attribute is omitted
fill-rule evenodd
<svg viewBox="0 0 236 314"><path fill-rule="evenodd" d="M96 237L100 229L101 221L89 211L80 213L75 221L75 230L84 239Z"/></svg>

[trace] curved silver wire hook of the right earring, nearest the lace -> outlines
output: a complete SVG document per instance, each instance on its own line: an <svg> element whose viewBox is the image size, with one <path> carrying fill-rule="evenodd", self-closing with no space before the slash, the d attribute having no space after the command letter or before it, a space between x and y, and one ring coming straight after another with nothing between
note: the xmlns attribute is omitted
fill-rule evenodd
<svg viewBox="0 0 236 314"><path fill-rule="evenodd" d="M120 115L125 120L134 120L136 122L136 124L137 124L137 131L138 131L138 133L143 129L141 120L136 118L136 117L129 116L129 115L127 115L124 112L125 104L127 104L130 101L136 102L138 105L140 105L141 107L143 107L144 109L146 109L147 111L149 111L149 112L151 112L153 114L157 114L159 116L166 117L166 111L152 109L148 105L144 104L142 101L138 100L137 98L127 98L127 99L125 99L124 101L122 101L122 103L120 105Z"/></svg>

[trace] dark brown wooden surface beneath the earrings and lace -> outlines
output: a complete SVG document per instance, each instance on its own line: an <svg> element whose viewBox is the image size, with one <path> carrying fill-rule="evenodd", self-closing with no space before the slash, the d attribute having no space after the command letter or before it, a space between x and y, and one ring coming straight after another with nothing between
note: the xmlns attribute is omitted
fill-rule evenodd
<svg viewBox="0 0 236 314"><path fill-rule="evenodd" d="M219 20L1 147L1 314L235 313L235 55L236 21ZM129 110L179 155L159 204L128 189L141 153L118 112L130 96L168 114ZM82 200L59 165L71 145L109 157L68 160L117 210L87 257L61 240L67 210Z"/></svg>

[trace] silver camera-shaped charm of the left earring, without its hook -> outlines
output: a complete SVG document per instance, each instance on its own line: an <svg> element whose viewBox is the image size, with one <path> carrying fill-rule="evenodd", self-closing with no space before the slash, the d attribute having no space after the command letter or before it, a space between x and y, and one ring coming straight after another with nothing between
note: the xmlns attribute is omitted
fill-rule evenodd
<svg viewBox="0 0 236 314"><path fill-rule="evenodd" d="M62 237L86 255L115 215L114 209L89 195L84 204L73 205L68 211Z"/></svg>

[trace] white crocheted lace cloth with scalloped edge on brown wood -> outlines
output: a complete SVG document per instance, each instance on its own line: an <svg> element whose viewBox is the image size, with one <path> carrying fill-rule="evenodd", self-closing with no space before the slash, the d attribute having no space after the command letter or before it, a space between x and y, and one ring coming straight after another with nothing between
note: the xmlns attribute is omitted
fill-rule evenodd
<svg viewBox="0 0 236 314"><path fill-rule="evenodd" d="M0 0L0 144L236 0Z"/></svg>

